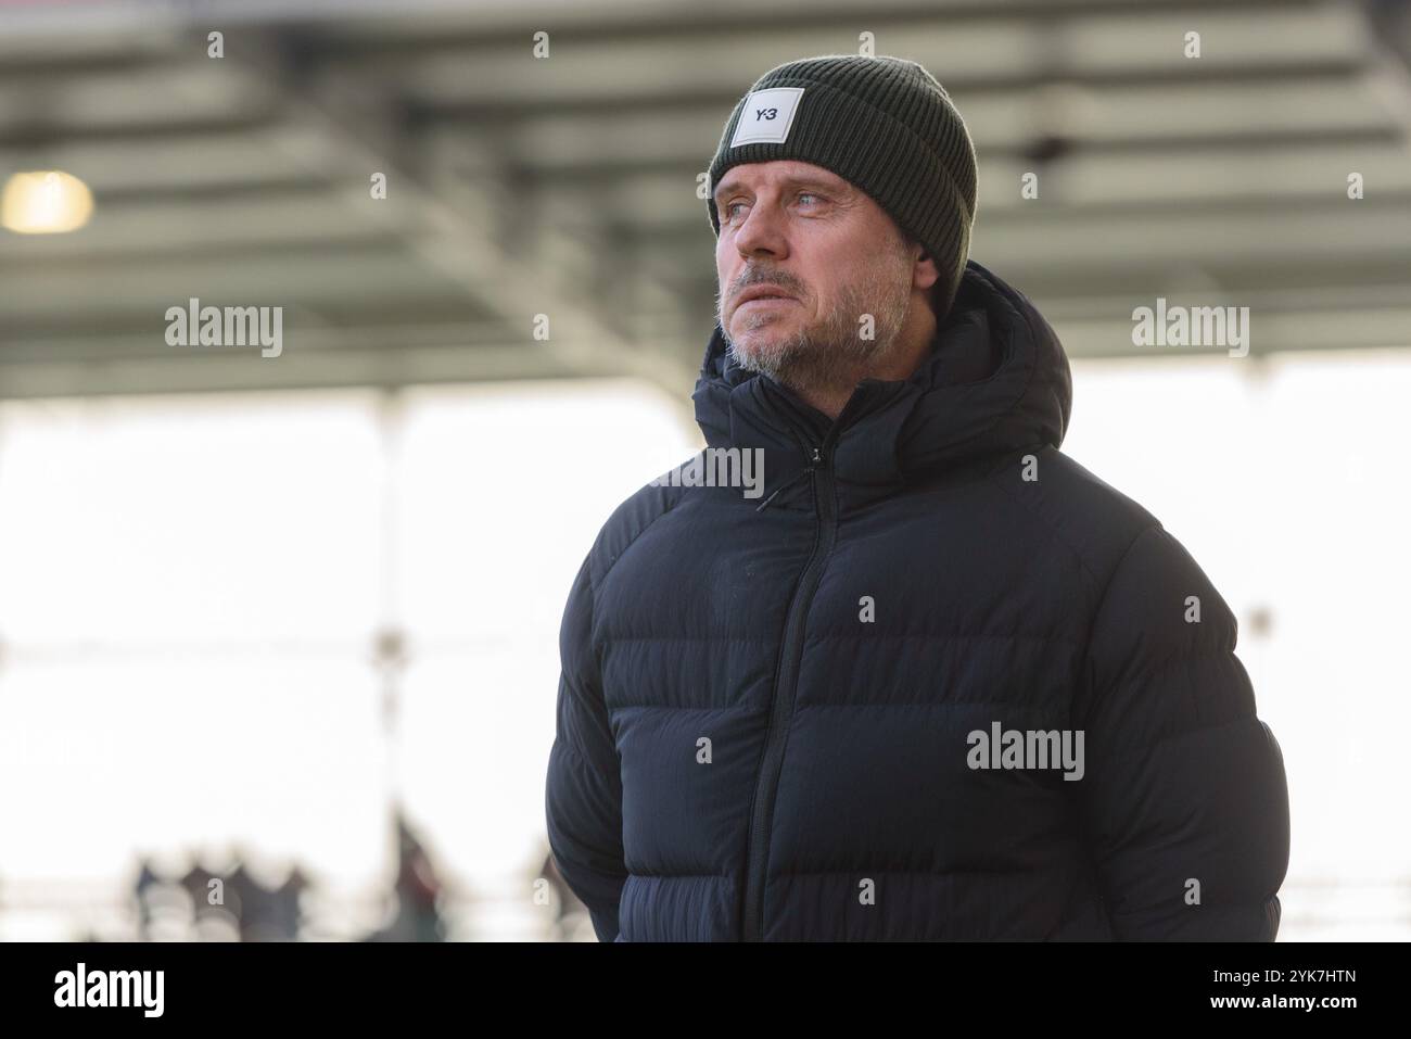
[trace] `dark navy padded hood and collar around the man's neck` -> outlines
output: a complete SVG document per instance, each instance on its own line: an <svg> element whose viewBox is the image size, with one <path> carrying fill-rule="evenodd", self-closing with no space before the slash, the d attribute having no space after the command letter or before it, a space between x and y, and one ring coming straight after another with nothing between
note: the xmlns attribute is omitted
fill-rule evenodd
<svg viewBox="0 0 1411 1039"><path fill-rule="evenodd" d="M1057 333L1029 298L968 260L926 360L906 380L862 380L837 421L769 376L741 368L718 323L691 400L708 446L763 449L770 508L811 507L799 477L814 448L825 457L831 449L838 504L848 508L1020 448L1060 446L1072 376Z"/></svg>

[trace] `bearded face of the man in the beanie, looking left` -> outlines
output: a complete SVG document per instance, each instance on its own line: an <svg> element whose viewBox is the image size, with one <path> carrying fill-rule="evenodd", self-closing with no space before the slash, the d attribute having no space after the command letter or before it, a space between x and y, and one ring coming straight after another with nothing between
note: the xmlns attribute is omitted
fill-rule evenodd
<svg viewBox="0 0 1411 1039"><path fill-rule="evenodd" d="M741 367L796 388L851 388L889 353L914 254L876 202L780 160L725 171L715 205L715 318ZM773 298L745 299L766 289Z"/></svg>

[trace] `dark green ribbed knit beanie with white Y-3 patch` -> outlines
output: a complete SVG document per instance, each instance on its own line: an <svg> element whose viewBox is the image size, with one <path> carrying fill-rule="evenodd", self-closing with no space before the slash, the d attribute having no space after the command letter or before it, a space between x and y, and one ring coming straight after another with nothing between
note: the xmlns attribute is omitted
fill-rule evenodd
<svg viewBox="0 0 1411 1039"><path fill-rule="evenodd" d="M866 192L935 261L937 320L965 272L975 222L975 145L935 78L904 58L823 55L779 65L755 82L710 164L715 186L744 162L799 160Z"/></svg>

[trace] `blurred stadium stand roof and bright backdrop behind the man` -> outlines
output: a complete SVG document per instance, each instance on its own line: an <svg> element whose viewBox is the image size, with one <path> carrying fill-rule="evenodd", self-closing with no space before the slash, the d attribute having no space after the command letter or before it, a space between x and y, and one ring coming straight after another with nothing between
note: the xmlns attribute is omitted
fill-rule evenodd
<svg viewBox="0 0 1411 1039"><path fill-rule="evenodd" d="M591 940L543 830L569 586L703 445L735 100L866 47L969 126L1064 450L1239 617L1280 940L1411 937L1408 16L0 0L0 939ZM1134 346L1158 296L1249 354ZM282 308L277 356L174 343L206 305Z"/></svg>

